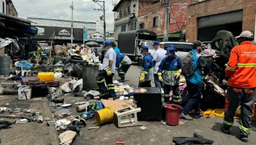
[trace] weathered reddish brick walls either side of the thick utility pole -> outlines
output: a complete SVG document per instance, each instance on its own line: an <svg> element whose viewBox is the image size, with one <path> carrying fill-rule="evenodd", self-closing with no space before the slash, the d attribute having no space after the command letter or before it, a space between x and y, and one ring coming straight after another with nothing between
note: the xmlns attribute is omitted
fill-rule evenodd
<svg viewBox="0 0 256 145"><path fill-rule="evenodd" d="M170 0L170 25L169 32L183 31L186 27L186 18L188 7L186 5L173 5L173 3L185 4L188 0L173 1ZM164 6L158 3L143 3L140 2L138 29L141 23L144 23L144 29L156 32L157 35L162 35L164 32ZM153 27L153 18L157 17L157 27Z"/></svg>

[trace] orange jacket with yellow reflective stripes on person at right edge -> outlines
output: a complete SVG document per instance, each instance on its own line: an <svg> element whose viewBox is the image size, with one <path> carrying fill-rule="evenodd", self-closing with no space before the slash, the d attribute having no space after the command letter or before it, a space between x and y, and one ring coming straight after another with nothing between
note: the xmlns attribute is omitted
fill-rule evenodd
<svg viewBox="0 0 256 145"><path fill-rule="evenodd" d="M225 74L229 86L256 87L256 46L251 41L244 41L231 50Z"/></svg>

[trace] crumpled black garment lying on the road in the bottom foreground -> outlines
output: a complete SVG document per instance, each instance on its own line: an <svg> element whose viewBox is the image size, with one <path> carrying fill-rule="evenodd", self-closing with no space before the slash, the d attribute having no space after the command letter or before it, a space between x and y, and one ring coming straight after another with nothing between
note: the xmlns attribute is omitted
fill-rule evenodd
<svg viewBox="0 0 256 145"><path fill-rule="evenodd" d="M205 139L199 134L194 132L194 137L173 137L172 140L176 145L192 145L192 144L212 144L213 141L210 139Z"/></svg>

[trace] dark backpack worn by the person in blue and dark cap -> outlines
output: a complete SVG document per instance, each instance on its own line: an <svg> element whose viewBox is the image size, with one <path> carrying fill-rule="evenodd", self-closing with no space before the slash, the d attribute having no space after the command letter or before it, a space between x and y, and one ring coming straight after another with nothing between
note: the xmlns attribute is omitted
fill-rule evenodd
<svg viewBox="0 0 256 145"><path fill-rule="evenodd" d="M198 55L198 53L195 53L191 55L191 53L188 53L188 55L184 58L182 67L181 67L181 74L185 77L193 76L196 67L192 66L192 60L195 55Z"/></svg>

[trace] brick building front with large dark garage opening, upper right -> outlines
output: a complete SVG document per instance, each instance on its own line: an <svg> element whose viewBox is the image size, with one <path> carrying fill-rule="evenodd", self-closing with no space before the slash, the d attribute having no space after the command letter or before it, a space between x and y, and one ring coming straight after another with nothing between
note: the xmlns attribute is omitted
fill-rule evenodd
<svg viewBox="0 0 256 145"><path fill-rule="evenodd" d="M227 30L235 36L241 31L255 31L255 0L190 1L186 26L188 41L211 41L216 32Z"/></svg>

